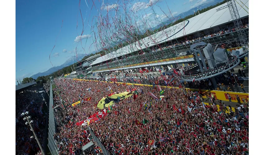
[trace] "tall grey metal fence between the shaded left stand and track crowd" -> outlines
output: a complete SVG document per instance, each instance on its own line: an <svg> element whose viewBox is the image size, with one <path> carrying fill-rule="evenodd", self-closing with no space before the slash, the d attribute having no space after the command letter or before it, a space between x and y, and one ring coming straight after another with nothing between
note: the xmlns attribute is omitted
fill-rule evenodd
<svg viewBox="0 0 264 155"><path fill-rule="evenodd" d="M53 113L53 91L52 91L52 83L50 83L50 98L49 98L49 114L48 114L48 148L52 155L58 155L57 144L55 143L53 135L56 132L56 120Z"/></svg>

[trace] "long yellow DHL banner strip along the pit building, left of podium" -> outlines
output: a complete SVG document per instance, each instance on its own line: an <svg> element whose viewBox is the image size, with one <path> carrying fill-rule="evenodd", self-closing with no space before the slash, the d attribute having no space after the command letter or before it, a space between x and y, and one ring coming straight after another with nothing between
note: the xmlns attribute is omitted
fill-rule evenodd
<svg viewBox="0 0 264 155"><path fill-rule="evenodd" d="M176 57L176 58L169 58L169 59L163 59L163 60L157 60L157 61L143 62L143 63L139 63L139 64L131 64L131 65L123 66L123 67L133 67L133 66L139 66L139 65L144 65L144 64L155 64L155 63L175 61L175 60L181 60L181 59L189 59L189 58L193 58L193 55L186 55L186 56L180 56L180 57ZM109 68L109 69L118 69L118 68L120 68L120 67L113 67L113 68ZM103 71L103 70L107 70L107 69L101 69L101 70L97 70L97 71Z"/></svg>

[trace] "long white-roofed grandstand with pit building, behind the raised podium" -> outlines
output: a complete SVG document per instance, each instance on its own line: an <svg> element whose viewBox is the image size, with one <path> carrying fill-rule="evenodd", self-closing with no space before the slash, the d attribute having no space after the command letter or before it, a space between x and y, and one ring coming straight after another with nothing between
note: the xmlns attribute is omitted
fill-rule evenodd
<svg viewBox="0 0 264 155"><path fill-rule="evenodd" d="M242 2L248 7L248 0ZM240 47L237 43L239 36L234 30L228 7L216 11L226 4L98 57L90 64L91 70L93 73L99 73L145 67L161 69L162 65L169 64L185 66L194 61L193 55L189 52L190 46L201 41L210 43L214 48L223 44L226 48ZM238 4L237 9L248 38L248 12ZM163 33L167 35L162 35ZM243 56L244 53L241 52L240 58Z"/></svg>

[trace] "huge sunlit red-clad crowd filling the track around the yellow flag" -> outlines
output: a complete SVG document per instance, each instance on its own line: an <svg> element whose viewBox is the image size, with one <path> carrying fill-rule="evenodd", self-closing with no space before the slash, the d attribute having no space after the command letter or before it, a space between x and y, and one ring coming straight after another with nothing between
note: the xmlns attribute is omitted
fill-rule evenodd
<svg viewBox="0 0 264 155"><path fill-rule="evenodd" d="M72 79L55 83L59 95L54 100L57 105L66 106L60 118L66 124L54 135L60 142L61 155L77 154L91 140L88 127L77 126L76 122L101 111L97 108L99 100L112 92L133 88L138 90L136 98L115 103L107 116L89 125L110 154L236 155L248 151L248 104L226 111L230 107L221 104L218 109L216 100L206 106L202 104L200 91L164 87L165 97L160 101L147 93L152 91L159 96L157 86ZM72 107L78 100L81 103ZM95 148L96 153L100 151Z"/></svg>

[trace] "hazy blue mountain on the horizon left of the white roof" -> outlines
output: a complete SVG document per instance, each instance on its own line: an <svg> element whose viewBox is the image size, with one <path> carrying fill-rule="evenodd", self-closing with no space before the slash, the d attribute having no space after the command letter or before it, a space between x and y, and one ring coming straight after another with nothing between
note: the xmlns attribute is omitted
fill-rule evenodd
<svg viewBox="0 0 264 155"><path fill-rule="evenodd" d="M85 54L78 54L78 60L82 60L84 58L84 56L86 56ZM67 67L69 65L72 65L74 63L78 62L77 59L76 59L76 55L75 56L71 56L68 60L65 61L65 63L63 63L62 65L60 66L55 66L55 67L52 67L50 69L48 69L47 71L45 72L42 72L42 73L37 73L37 74L34 74L31 76L31 78L34 78L34 79L37 79L39 76L46 76L46 75L49 75L53 72L56 72L57 70L59 69L62 69L64 67Z"/></svg>

